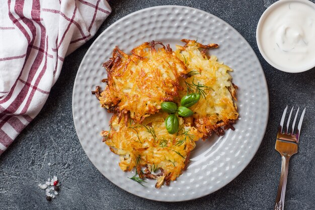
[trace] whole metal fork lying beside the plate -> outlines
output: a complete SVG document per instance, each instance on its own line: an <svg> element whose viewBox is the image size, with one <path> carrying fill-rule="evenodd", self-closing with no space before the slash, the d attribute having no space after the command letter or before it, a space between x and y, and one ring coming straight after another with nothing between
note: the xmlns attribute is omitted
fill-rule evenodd
<svg viewBox="0 0 315 210"><path fill-rule="evenodd" d="M282 166L281 166L280 182L278 186L278 192L277 192L277 198L276 198L274 210L283 210L283 207L284 207L284 196L285 196L286 181L288 177L289 161L290 161L290 157L297 153L299 135L301 131L303 117L305 114L305 108L304 108L300 116L297 129L294 132L294 126L295 126L297 114L299 111L299 107L297 108L294 120L292 122L292 129L290 130L289 124L290 124L290 119L291 119L291 115L293 111L293 107L292 107L289 117L288 117L287 124L283 130L283 123L284 123L287 109L288 109L288 106L285 107L282 114L281 122L278 128L276 146L275 146L276 151L278 151L280 155L282 156Z"/></svg>

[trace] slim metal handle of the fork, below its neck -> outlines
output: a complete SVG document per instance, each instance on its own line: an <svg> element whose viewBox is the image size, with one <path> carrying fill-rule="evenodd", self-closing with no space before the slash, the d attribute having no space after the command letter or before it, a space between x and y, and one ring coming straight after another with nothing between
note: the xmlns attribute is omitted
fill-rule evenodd
<svg viewBox="0 0 315 210"><path fill-rule="evenodd" d="M283 210L284 208L285 188L286 188L286 181L288 178L290 157L291 156L282 156L280 182L278 186L278 192L277 192L274 210Z"/></svg>

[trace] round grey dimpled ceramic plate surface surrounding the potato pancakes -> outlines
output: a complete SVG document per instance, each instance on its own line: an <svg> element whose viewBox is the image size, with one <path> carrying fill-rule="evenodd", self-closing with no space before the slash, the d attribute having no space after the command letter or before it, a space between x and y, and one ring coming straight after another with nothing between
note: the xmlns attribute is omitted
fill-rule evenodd
<svg viewBox="0 0 315 210"><path fill-rule="evenodd" d="M102 63L118 45L125 52L145 41L162 41L171 46L179 40L196 39L217 43L210 51L234 69L233 82L239 86L240 120L224 137L197 142L188 169L170 186L147 187L128 179L119 157L102 143L100 131L108 129L111 117L91 94L106 77ZM103 84L104 88L104 84ZM73 120L80 143L96 168L110 181L135 195L152 200L182 201L207 195L237 177L257 152L265 133L269 101L262 67L247 41L221 19L188 7L160 6L132 13L108 27L92 44L78 69L72 97ZM93 187L93 186L92 186Z"/></svg>

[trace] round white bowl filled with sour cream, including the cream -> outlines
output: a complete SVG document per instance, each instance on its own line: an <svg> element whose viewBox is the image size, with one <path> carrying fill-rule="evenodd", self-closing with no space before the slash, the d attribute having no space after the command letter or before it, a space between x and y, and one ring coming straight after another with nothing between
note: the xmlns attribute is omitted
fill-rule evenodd
<svg viewBox="0 0 315 210"><path fill-rule="evenodd" d="M260 53L275 68L289 73L315 66L315 4L280 0L261 16L256 31Z"/></svg>

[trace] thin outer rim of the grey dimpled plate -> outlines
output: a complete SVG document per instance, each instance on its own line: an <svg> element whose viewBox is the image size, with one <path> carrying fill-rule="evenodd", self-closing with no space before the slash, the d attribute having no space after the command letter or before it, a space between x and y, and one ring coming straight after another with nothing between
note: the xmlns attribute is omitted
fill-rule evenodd
<svg viewBox="0 0 315 210"><path fill-rule="evenodd" d="M243 166L240 166L239 168L241 168L241 170L239 169L239 171L235 172L235 173L233 174L233 176L231 176L231 177L229 177L228 179L226 179L226 182L225 182L223 185L221 185L219 188L217 188L217 189L215 189L215 190L209 190L208 193L205 193L205 194L202 194L202 195L198 195L198 196L191 197L191 198L188 198L188 199L183 198L183 199L181 199L181 200L162 200L162 199L159 199L159 198L157 198L157 197L156 197L155 199L151 199L151 198L148 198L148 197L145 197L145 196L141 196L141 195L135 194L135 193L133 193L132 191L126 190L126 189L122 188L121 186L115 184L115 183L114 183L112 180L110 180L109 178L107 178L107 177L101 172L101 170L98 168L98 166L96 166L96 165L91 161L89 155L88 155L88 154L86 153L86 151L84 150L84 147L83 147L83 145L82 145L81 139L79 138L79 136L78 136L78 134L77 134L77 125L76 125L76 122L75 122L75 119L74 119L74 108L73 108L73 107L74 107L73 95L74 95L74 88L75 88L75 85L76 85L76 83L77 83L78 73L80 72L80 69L81 69L81 66L82 66L83 61L85 60L85 58L87 57L87 55L90 53L90 51L91 51L92 47L94 46L94 44L95 44L99 39L101 39L102 35L105 34L108 30L110 30L114 25L116 25L117 23L123 21L124 19L129 18L130 16L133 16L133 15L138 14L138 13L142 13L142 12L144 12L144 11L146 11L146 10L151 10L151 9L163 9L163 8L169 8L169 7L171 7L171 8L175 7L175 8L178 8L178 9L185 9L185 8L186 8L186 9L193 9L193 10L197 11L198 13L203 13L203 14L205 14L205 15L210 15L210 16L214 17L215 19L218 19L219 21L222 21L223 23L225 23L232 31L234 31L234 33L237 33L237 34L245 41L244 44L248 46L248 50L252 51L252 53L255 55L254 59L256 59L256 60L258 61L258 65L259 65L259 67L260 67L259 69L257 69L257 71L262 71L262 75L263 75L263 77L262 77L262 79L263 79L262 82L263 82L264 86L266 87L266 92L267 92L267 95L266 95L266 110L267 110L267 113L266 113L266 116L265 116L265 122L266 122L266 123L265 123L264 127L262 128L262 130L263 130L262 136L257 136L257 137L256 137L256 138L257 138L257 139L256 139L256 141L257 141L257 145L256 145L256 146L257 146L257 147L254 148L254 150L253 150L254 152L252 153L252 156L251 156L251 157L250 157L250 156L247 157L247 159L246 159L246 160L247 160L247 161L246 161L247 163L244 164ZM215 16L215 15L212 15L211 13L208 13L208 12L205 12L205 11L203 11L203 10L196 9L196 8L192 8L192 7L187 7L187 6L162 5L162 6L148 7L148 8L144 8L144 9L141 9L141 10L138 10L138 11L135 11L135 12L132 12L132 13L130 13L130 14L128 14L128 15L126 15L126 16L120 18L119 20L115 21L113 24L111 24L109 27L107 27L107 28L93 41L93 43L91 44L91 46L90 46L89 49L87 50L86 54L84 55L84 57L83 57L83 59L82 59L82 61L81 61L81 63L80 63L80 66L78 67L78 71L77 71L77 73L76 73L76 76L75 76L75 79L74 79L74 84L73 84L73 89L72 89L72 118L73 118L73 122L74 122L75 132L76 132L76 135L77 135L77 137L78 137L78 140L79 140L79 142L80 142L80 144L81 144L81 147L82 147L83 150L85 151L85 153L86 153L87 157L89 158L89 160L91 161L91 163L98 169L98 171L99 171L104 177L106 177L110 182L112 182L114 185L118 186L119 188L121 188L121 189L123 189L123 190L125 190L125 191L127 191L127 192L129 192L129 193L131 193L131 194L133 194L133 195L136 195L136 196L138 196L138 197L142 197L142 198L149 199L149 200L155 200L155 201L181 202L181 201L193 200L193 199L197 199L197 198L200 198L200 197L204 197L204 196L206 196L206 195L209 195L209 194L211 194L211 193L213 193L213 192L215 192L215 191L217 191L217 190L223 188L224 186L226 186L228 183L230 183L232 180L234 180L236 177L238 177L238 176L244 171L244 169L249 165L249 163L253 160L253 158L255 157L255 155L256 155L256 153L257 153L257 151L258 151L258 149L259 149L259 147L260 147L260 145L261 145L261 143L262 143L262 141L263 141L265 132L266 132L266 128L267 128L267 124L268 124L268 117L269 117L269 90L268 90L267 80L266 80L266 77L265 77L265 73L264 73L264 71L263 71L263 68L262 68L262 66L261 66L261 63L260 63L260 61L259 61L259 59L258 59L258 57L257 57L257 55L256 55L256 53L255 53L255 51L254 51L253 48L251 47L251 45L250 45L250 44L248 43L248 41L242 36L242 34L240 34L234 27L232 27L231 25L229 25L228 23L226 23L224 20L218 18L218 17Z"/></svg>

